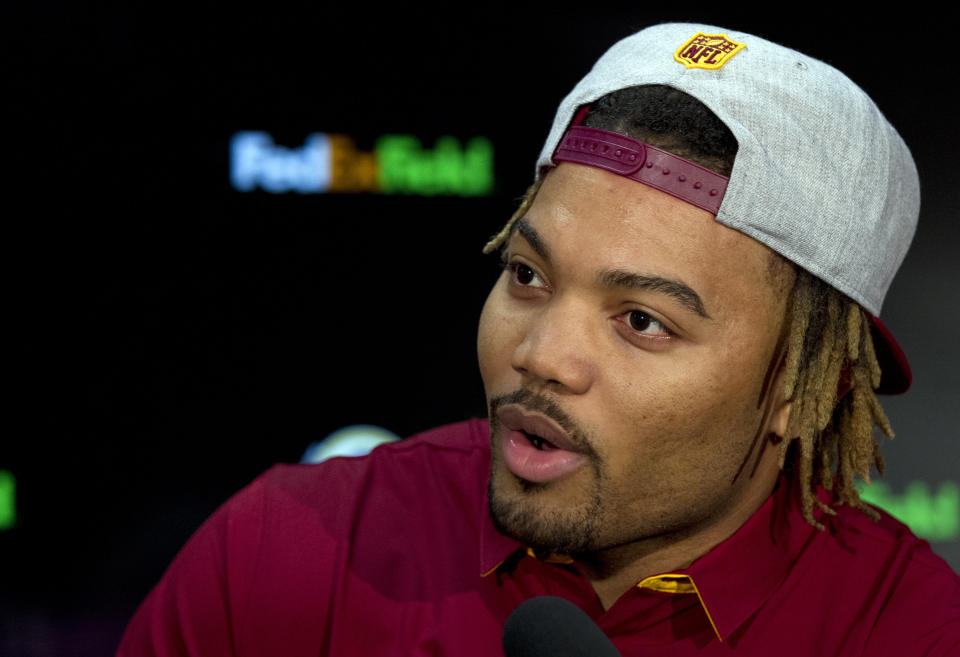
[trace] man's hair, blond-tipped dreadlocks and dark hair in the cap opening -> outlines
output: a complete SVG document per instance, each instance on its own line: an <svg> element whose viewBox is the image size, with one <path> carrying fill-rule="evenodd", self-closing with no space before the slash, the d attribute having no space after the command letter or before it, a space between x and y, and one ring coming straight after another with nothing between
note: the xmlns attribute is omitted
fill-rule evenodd
<svg viewBox="0 0 960 657"><path fill-rule="evenodd" d="M591 104L584 125L644 141L680 157L730 175L737 142L729 128L692 96L662 85L627 87ZM510 236L540 189L542 176L527 189L520 206L483 249L490 253ZM876 424L893 438L890 422L877 401L880 366L870 334L870 320L852 299L771 251L771 283L795 273L783 325L783 395L791 402L780 468L797 470L803 516L820 509L836 512L817 499L817 488L834 491L834 504L877 512L859 496L855 478L870 483L870 469L883 474L884 463L874 438ZM786 293L786 289L783 290ZM771 392L773 394L773 392Z"/></svg>

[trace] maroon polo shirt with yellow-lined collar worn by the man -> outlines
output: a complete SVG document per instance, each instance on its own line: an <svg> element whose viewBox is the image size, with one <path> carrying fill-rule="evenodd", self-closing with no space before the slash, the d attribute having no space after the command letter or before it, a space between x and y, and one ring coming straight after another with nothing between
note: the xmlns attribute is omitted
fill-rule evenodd
<svg viewBox="0 0 960 657"><path fill-rule="evenodd" d="M782 479L732 537L604 611L574 564L493 528L489 464L474 420L271 469L190 539L118 655L489 657L539 595L577 604L625 656L960 654L960 578L887 515L841 507L819 532Z"/></svg>

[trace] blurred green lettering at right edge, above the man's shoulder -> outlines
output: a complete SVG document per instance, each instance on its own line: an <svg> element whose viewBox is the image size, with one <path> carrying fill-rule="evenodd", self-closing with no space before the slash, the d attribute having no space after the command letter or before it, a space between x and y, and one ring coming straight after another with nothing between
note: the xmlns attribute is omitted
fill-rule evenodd
<svg viewBox="0 0 960 657"><path fill-rule="evenodd" d="M860 498L880 507L913 533L928 541L960 538L960 486L954 481L940 484L936 494L924 481L911 481L898 495L882 482L858 486Z"/></svg>

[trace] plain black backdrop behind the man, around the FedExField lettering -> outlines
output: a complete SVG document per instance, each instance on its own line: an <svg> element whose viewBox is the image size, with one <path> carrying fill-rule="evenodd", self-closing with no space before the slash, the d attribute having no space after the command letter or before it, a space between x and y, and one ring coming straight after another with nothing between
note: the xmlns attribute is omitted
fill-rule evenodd
<svg viewBox="0 0 960 657"><path fill-rule="evenodd" d="M0 469L18 482L17 526L0 532L3 655L110 653L203 519L331 431L408 435L482 414L475 328L497 268L480 248L530 182L560 99L615 40L664 20L834 64L911 146L921 222L882 316L915 385L886 404L887 481L957 479L960 140L936 17L596 3L3 12L17 366ZM347 134L364 150L390 133L427 146L481 135L496 191L243 194L227 177L239 130L290 147ZM934 547L960 567L956 543Z"/></svg>

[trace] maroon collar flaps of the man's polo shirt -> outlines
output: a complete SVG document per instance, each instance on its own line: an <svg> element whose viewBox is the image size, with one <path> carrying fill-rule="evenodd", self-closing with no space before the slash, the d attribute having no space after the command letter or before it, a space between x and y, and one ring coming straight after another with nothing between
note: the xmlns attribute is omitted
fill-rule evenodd
<svg viewBox="0 0 960 657"><path fill-rule="evenodd" d="M482 514L480 573L488 575L524 546L496 530L486 496ZM795 479L781 475L773 494L730 538L671 572L690 577L725 640L780 586L816 533L800 510Z"/></svg>

